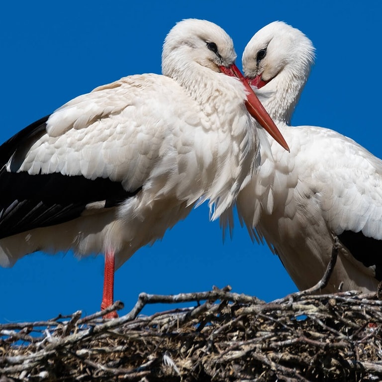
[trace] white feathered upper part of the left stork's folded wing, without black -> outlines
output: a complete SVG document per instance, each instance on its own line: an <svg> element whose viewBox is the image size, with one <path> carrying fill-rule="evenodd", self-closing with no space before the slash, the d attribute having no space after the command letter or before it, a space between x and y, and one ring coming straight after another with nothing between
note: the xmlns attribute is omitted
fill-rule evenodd
<svg viewBox="0 0 382 382"><path fill-rule="evenodd" d="M153 102L158 92L162 97ZM183 129L195 124L193 117L192 126L187 125L190 113L182 94L173 80L150 74L126 77L74 98L49 117L47 133L31 145L17 170L109 178L122 182L126 190L141 187L161 159L171 156L174 130L181 122ZM177 109L169 109L169 104ZM192 134L188 136L184 152L192 147ZM171 165L176 161L173 158Z"/></svg>

